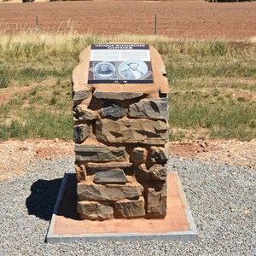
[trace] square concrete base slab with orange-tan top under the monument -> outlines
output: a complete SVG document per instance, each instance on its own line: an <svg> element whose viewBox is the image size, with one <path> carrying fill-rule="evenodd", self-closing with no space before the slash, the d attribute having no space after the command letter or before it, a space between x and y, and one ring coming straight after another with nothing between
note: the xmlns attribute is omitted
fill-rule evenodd
<svg viewBox="0 0 256 256"><path fill-rule="evenodd" d="M46 241L194 241L198 233L177 172L168 172L167 183L166 218L79 220L76 212L76 177L75 174L65 174Z"/></svg>

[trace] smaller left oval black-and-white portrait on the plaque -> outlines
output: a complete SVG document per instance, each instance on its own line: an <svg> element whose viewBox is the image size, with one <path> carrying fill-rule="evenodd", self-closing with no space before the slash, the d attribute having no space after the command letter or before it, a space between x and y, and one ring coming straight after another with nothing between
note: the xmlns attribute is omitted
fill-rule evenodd
<svg viewBox="0 0 256 256"><path fill-rule="evenodd" d="M114 62L101 61L94 63L94 77L96 79L107 79L113 77L116 73Z"/></svg>

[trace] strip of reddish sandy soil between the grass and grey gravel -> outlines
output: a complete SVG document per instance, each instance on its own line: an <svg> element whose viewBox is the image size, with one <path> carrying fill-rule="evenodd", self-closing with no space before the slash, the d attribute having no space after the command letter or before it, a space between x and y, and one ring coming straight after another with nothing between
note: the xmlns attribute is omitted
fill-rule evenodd
<svg viewBox="0 0 256 256"><path fill-rule="evenodd" d="M247 166L256 169L256 140L238 141L195 141L170 143L170 155L181 160L208 162L232 166ZM0 142L0 182L26 172L26 166L36 160L58 160L74 156L74 144L59 140L9 140Z"/></svg>

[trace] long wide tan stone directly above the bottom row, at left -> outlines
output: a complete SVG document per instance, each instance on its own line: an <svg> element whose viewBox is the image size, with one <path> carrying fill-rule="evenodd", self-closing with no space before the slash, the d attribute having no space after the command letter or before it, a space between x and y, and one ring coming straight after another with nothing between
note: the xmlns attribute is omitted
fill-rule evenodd
<svg viewBox="0 0 256 256"><path fill-rule="evenodd" d="M134 179L121 184L101 185L93 183L93 177L87 176L86 181L78 183L77 194L79 201L119 201L142 195L143 186Z"/></svg>

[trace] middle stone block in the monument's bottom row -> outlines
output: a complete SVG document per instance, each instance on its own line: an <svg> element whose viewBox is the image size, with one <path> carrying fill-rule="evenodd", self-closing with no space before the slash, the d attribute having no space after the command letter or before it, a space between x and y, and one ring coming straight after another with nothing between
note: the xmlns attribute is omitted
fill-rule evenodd
<svg viewBox="0 0 256 256"><path fill-rule="evenodd" d="M143 196L137 200L123 199L113 204L115 218L140 218L145 216Z"/></svg>

